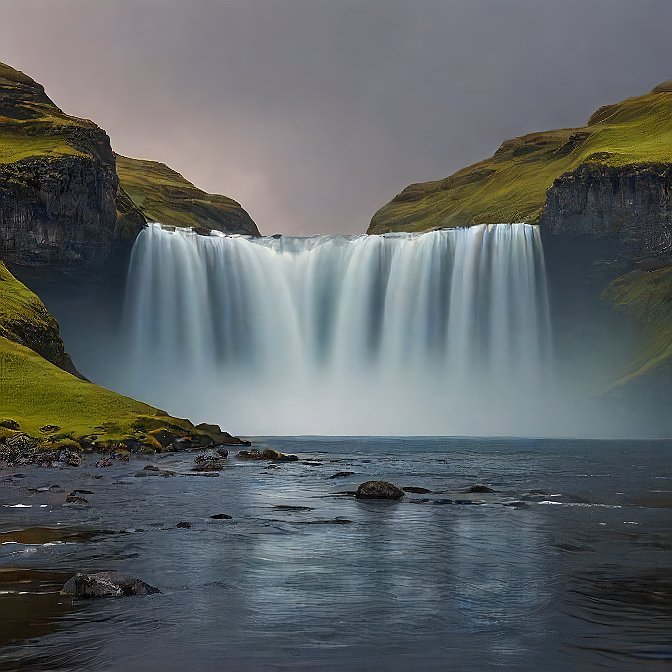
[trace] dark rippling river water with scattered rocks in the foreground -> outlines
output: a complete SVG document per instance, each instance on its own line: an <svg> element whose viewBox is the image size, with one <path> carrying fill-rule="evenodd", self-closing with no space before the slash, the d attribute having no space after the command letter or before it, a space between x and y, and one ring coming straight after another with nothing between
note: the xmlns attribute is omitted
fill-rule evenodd
<svg viewBox="0 0 672 672"><path fill-rule="evenodd" d="M301 459L229 457L213 478L191 454L0 472L0 669L672 666L672 442L255 443ZM178 475L136 477L149 463ZM341 494L374 478L432 493ZM496 492L464 493L476 483ZM65 505L75 489L89 504ZM58 594L102 570L162 593Z"/></svg>

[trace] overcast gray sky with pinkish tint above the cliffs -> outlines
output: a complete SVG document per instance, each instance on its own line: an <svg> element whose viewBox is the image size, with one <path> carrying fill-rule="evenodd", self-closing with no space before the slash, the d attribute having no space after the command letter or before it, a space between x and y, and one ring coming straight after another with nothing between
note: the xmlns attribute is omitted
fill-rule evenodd
<svg viewBox="0 0 672 672"><path fill-rule="evenodd" d="M0 0L0 60L263 233L361 232L411 182L672 76L670 0Z"/></svg>

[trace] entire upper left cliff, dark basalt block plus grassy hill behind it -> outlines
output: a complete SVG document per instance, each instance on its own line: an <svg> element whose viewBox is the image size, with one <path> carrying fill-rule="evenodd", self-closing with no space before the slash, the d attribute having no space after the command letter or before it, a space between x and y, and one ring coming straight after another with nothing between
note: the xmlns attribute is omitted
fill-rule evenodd
<svg viewBox="0 0 672 672"><path fill-rule="evenodd" d="M65 114L40 84L0 64L0 258L22 276L100 275L146 221L162 217L259 235L238 203L167 166L118 163L105 131Z"/></svg>

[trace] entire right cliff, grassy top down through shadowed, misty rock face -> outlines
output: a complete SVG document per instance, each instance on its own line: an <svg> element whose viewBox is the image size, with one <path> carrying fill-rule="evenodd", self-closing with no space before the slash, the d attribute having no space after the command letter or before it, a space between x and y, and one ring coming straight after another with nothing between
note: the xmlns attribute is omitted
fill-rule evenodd
<svg viewBox="0 0 672 672"><path fill-rule="evenodd" d="M412 184L376 212L368 232L499 222L541 226L559 341L585 349L587 333L605 343L634 326L638 343L628 361L614 362L616 380L655 371L660 389L672 388L672 273L664 270L672 260L672 81L599 109L584 127L507 140L450 177Z"/></svg>

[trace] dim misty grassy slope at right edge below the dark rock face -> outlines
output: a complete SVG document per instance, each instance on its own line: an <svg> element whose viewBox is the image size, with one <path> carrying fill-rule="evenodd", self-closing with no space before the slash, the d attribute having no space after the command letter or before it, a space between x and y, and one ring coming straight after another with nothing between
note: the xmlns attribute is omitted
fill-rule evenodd
<svg viewBox="0 0 672 672"><path fill-rule="evenodd" d="M642 331L641 346L620 382L672 365L672 266L621 276L603 299L632 315Z"/></svg>

